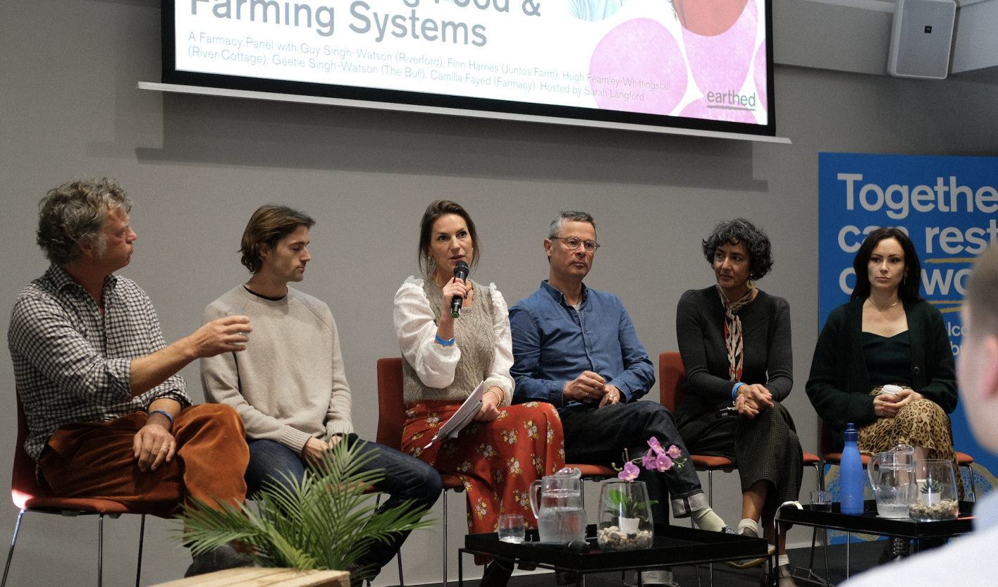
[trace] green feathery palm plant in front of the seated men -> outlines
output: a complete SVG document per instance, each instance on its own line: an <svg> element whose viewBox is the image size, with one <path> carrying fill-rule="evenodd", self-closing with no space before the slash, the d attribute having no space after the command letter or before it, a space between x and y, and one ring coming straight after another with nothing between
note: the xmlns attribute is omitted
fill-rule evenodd
<svg viewBox="0 0 998 587"><path fill-rule="evenodd" d="M363 468L373 458L361 451L363 442L346 444L308 463L301 480L281 473L282 482L265 484L253 496L258 513L245 504L193 500L178 516L180 539L195 554L238 540L254 550L248 556L260 566L344 570L375 542L435 524L422 520L428 508L411 500L376 511L365 491L381 481L381 471Z"/></svg>

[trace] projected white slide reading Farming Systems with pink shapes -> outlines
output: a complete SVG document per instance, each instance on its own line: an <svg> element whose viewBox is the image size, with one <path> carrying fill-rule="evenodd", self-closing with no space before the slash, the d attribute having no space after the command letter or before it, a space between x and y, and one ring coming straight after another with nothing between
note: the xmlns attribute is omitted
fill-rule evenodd
<svg viewBox="0 0 998 587"><path fill-rule="evenodd" d="M178 71L764 126L764 0L177 0Z"/></svg>

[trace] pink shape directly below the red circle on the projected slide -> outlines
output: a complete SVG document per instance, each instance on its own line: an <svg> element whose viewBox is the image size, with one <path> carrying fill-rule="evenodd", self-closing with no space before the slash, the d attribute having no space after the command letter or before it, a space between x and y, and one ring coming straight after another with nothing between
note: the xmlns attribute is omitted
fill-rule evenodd
<svg viewBox="0 0 998 587"><path fill-rule="evenodd" d="M705 37L683 29L690 70L701 93L738 92L745 85L757 30L754 0L735 26L720 35Z"/></svg>

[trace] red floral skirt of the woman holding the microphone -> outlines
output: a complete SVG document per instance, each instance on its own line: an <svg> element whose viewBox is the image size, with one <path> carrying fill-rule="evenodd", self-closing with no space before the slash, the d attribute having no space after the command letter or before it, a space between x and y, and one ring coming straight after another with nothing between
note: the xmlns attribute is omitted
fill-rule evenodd
<svg viewBox="0 0 998 587"><path fill-rule="evenodd" d="M504 513L523 514L527 528L536 528L530 483L565 466L558 411L537 401L508 405L491 422L472 421L456 438L424 449L460 406L459 401L408 404L402 452L460 477L468 492L468 532L495 532Z"/></svg>

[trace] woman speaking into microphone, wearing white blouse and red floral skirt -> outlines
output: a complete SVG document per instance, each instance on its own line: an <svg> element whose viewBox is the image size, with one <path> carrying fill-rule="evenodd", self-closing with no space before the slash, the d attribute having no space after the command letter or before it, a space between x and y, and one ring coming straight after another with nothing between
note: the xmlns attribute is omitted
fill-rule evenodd
<svg viewBox="0 0 998 587"><path fill-rule="evenodd" d="M494 532L500 513L522 514L528 528L530 483L565 466L561 420L549 403L510 405L514 382L509 312L495 285L455 277L459 263L474 268L475 224L446 200L426 208L419 229L423 278L395 293L395 333L402 350L406 423L402 451L461 478L468 495L468 528ZM465 274L466 275L466 274ZM451 303L460 300L460 316ZM457 438L430 443L479 382L482 405ZM512 567L495 561L483 585L504 585Z"/></svg>

